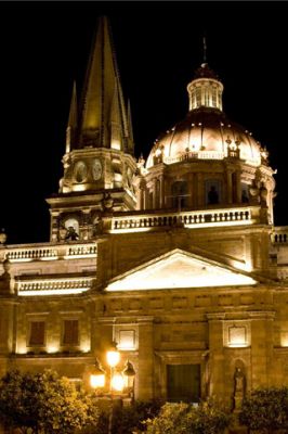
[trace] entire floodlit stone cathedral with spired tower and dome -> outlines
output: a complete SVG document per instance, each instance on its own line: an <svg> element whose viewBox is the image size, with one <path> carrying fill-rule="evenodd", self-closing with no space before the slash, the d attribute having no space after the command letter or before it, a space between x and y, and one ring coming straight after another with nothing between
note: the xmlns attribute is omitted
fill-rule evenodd
<svg viewBox="0 0 288 434"><path fill-rule="evenodd" d="M89 388L114 343L136 399L217 395L235 409L252 388L288 385L288 227L274 226L269 153L228 119L206 62L185 91L186 117L136 159L99 20L47 199L50 240L0 234L0 375L52 368Z"/></svg>

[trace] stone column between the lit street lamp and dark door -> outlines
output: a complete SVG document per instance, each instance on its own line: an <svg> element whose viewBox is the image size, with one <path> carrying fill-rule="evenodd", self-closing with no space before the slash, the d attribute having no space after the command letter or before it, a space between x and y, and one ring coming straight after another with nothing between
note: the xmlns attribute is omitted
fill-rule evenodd
<svg viewBox="0 0 288 434"><path fill-rule="evenodd" d="M136 398L149 400L154 397L154 317L140 317L139 322L139 370L135 379Z"/></svg>

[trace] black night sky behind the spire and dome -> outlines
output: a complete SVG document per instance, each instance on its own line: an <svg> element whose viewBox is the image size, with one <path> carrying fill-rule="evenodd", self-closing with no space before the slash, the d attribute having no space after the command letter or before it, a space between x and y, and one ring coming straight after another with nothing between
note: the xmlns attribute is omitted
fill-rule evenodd
<svg viewBox="0 0 288 434"><path fill-rule="evenodd" d="M136 156L187 112L202 60L224 84L224 111L271 153L276 225L288 225L285 2L0 2L0 228L8 243L49 241L73 79L78 89L100 14L112 22Z"/></svg>

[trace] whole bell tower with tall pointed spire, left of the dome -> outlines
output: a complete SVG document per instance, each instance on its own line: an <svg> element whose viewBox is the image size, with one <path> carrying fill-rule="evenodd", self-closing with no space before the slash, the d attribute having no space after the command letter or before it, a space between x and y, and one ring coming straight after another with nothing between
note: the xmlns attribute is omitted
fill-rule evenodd
<svg viewBox="0 0 288 434"><path fill-rule="evenodd" d="M123 100L109 23L103 16L79 103L76 84L73 88L60 191L47 200L51 241L89 240L97 233L103 212L135 208L133 153L130 108Z"/></svg>

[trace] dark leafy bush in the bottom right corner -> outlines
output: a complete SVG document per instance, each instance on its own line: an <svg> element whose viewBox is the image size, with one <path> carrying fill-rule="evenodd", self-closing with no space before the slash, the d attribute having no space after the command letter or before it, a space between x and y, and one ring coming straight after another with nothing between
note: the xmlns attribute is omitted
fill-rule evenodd
<svg viewBox="0 0 288 434"><path fill-rule="evenodd" d="M250 393L239 414L250 430L273 433L288 429L288 387L259 388Z"/></svg>

